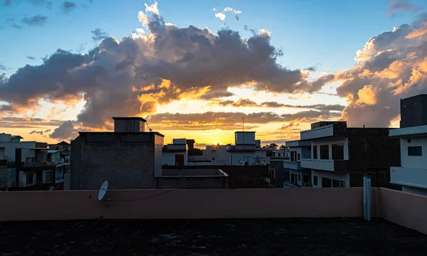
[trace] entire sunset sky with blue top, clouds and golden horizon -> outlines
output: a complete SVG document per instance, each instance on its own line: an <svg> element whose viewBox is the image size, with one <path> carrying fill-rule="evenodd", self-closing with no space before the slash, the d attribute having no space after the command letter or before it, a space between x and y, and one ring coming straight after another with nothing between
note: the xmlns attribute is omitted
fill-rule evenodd
<svg viewBox="0 0 427 256"><path fill-rule="evenodd" d="M263 144L320 120L397 127L427 88L427 1L2 0L0 132L55 143L139 116Z"/></svg>

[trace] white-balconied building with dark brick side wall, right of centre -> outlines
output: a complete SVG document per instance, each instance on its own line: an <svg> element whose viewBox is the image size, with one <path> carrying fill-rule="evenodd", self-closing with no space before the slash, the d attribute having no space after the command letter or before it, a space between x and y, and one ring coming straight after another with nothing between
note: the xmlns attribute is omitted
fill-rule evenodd
<svg viewBox="0 0 427 256"><path fill-rule="evenodd" d="M300 132L300 140L311 142L310 158L301 168L311 171L314 187L362 186L369 174L372 186L389 186L390 166L400 165L399 139L389 137L390 128L347 128L347 122L317 122Z"/></svg>

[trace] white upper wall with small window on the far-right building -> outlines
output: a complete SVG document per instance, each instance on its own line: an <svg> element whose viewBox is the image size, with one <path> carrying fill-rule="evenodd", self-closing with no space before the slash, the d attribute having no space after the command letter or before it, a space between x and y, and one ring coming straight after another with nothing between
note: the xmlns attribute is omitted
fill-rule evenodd
<svg viewBox="0 0 427 256"><path fill-rule="evenodd" d="M408 138L400 139L401 143L401 166L426 169L427 163L427 137L413 137L411 143L408 142ZM408 156L408 146L421 146L422 156Z"/></svg>

